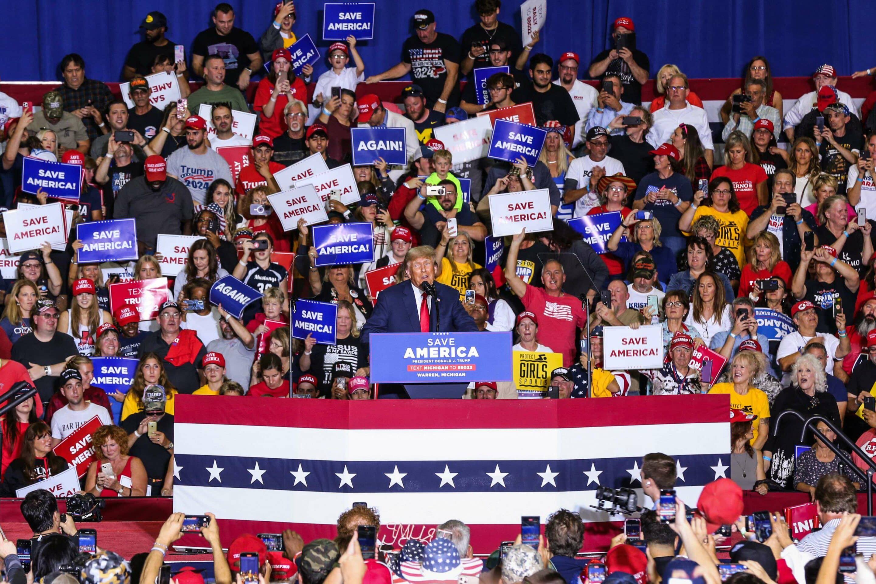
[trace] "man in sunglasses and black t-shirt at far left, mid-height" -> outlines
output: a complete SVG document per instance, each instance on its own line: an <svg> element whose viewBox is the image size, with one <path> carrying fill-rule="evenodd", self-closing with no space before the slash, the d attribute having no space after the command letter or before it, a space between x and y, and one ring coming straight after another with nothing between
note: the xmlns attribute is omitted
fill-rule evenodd
<svg viewBox="0 0 876 584"><path fill-rule="evenodd" d="M44 407L52 398L56 378L67 369L67 359L78 355L73 337L58 332L59 317L51 300L39 300L31 319L33 330L12 345L12 359L25 366Z"/></svg>

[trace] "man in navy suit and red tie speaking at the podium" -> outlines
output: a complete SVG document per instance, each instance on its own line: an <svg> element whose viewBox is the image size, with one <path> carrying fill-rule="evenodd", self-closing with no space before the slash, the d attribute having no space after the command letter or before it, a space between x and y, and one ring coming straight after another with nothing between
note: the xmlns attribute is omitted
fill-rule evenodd
<svg viewBox="0 0 876 584"><path fill-rule="evenodd" d="M359 338L364 345L370 342L371 333L477 333L475 320L459 301L459 291L434 281L434 248L421 245L409 250L405 270L410 279L380 292L374 312L362 327ZM380 398L392 397L406 397L404 388L381 385Z"/></svg>

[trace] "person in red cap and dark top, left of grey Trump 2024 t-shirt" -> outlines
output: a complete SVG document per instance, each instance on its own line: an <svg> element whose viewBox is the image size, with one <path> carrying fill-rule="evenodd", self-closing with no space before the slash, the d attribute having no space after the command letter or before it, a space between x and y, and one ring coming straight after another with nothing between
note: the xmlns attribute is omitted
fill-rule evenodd
<svg viewBox="0 0 876 584"><path fill-rule="evenodd" d="M129 180L118 192L115 218L132 217L137 222L140 255L152 255L159 233L192 235L194 203L187 186L167 176L164 158L146 158L144 171L143 176Z"/></svg>

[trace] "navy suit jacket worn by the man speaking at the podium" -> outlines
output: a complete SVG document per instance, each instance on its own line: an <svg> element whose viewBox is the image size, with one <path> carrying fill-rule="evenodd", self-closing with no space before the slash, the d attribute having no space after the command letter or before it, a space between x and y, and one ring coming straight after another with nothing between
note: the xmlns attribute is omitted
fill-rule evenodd
<svg viewBox="0 0 876 584"><path fill-rule="evenodd" d="M475 320L465 312L463 303L459 301L459 291L449 285L434 283L438 292L438 301L433 299L429 311L430 331L441 333L477 332ZM435 328L435 305L441 314L441 330ZM420 306L413 293L410 280L405 280L380 292L374 312L362 327L360 339L370 342L371 333L420 333Z"/></svg>

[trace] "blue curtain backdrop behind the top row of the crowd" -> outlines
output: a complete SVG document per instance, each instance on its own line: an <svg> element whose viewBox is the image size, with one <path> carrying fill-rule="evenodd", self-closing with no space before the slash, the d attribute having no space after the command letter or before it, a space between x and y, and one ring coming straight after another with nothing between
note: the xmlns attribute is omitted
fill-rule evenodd
<svg viewBox="0 0 876 584"><path fill-rule="evenodd" d="M258 42L272 19L272 0L234 0L237 26ZM321 48L322 1L296 2L295 32L306 32ZM363 41L366 74L399 62L413 11L434 11L438 30L457 39L477 20L472 0L377 0L375 39ZM519 30L520 0L505 0L500 19ZM0 78L4 81L60 79L66 53L80 53L89 77L118 81L124 56L142 39L138 25L159 10L170 23L167 37L188 48L210 24L213 0L25 0L4 2L0 18ZM548 22L536 51L556 58L564 51L589 61L607 46L611 22L627 16L636 24L639 48L651 59L651 74L675 63L689 77L736 77L752 55L764 54L777 76L809 75L827 62L840 75L876 65L876 2L872 0L548 0ZM317 74L326 68L317 67ZM582 68L582 74L585 67Z"/></svg>

